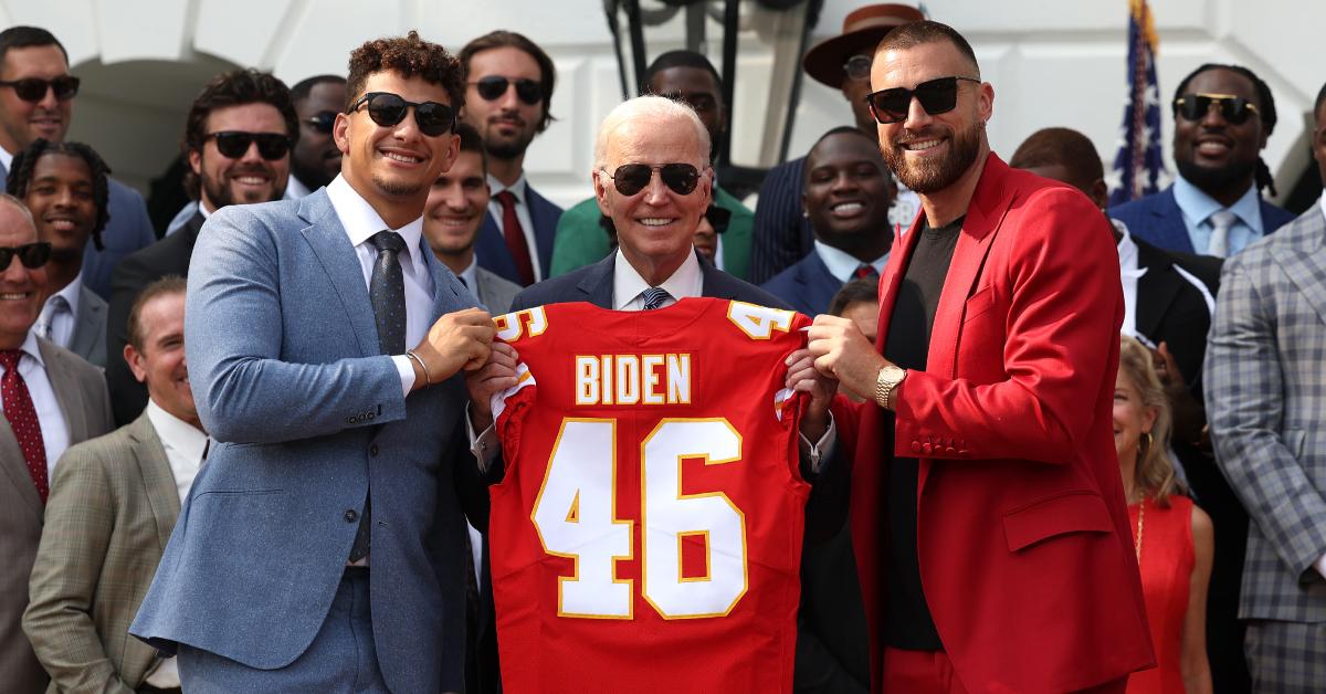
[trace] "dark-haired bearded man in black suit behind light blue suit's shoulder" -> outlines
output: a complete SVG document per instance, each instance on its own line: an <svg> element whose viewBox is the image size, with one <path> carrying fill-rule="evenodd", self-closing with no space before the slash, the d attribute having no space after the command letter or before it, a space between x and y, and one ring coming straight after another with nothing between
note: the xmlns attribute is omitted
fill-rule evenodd
<svg viewBox="0 0 1326 694"><path fill-rule="evenodd" d="M229 204L280 200L290 174L290 147L300 127L290 90L271 73L232 70L213 77L194 100L180 149L190 171L184 186L198 208L175 234L126 257L111 279L106 349L119 354L129 341L129 311L149 284L188 276L203 223ZM147 389L125 360L109 360L106 381L115 423L127 425L147 406Z"/></svg>

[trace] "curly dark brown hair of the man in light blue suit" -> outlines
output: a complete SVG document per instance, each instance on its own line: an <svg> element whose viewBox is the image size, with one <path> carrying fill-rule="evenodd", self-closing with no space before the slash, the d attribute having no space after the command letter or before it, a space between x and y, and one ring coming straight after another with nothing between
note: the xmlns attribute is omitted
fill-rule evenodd
<svg viewBox="0 0 1326 694"><path fill-rule="evenodd" d="M404 36L365 41L350 53L345 107L349 109L363 96L363 84L370 74L387 70L443 88L456 113L465 105L465 69L460 60L442 45L419 38L419 32L411 29Z"/></svg>

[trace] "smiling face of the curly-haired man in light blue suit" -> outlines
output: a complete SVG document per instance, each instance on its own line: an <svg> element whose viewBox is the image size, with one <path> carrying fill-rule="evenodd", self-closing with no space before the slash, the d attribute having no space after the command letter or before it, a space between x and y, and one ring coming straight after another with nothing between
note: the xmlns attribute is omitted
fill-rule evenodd
<svg viewBox="0 0 1326 694"><path fill-rule="evenodd" d="M365 80L359 98L370 92L398 94L406 101L423 104L435 101L451 105L442 85L426 82L422 77L400 77L395 72L373 73ZM423 212L428 190L456 159L459 138L452 133L438 137L424 135L415 122L415 110L392 126L382 126L369 117L367 106L354 113L337 115L333 129L341 149L341 174L387 223L389 216L404 222ZM396 214L387 214L392 210ZM403 222L402 222L403 224Z"/></svg>

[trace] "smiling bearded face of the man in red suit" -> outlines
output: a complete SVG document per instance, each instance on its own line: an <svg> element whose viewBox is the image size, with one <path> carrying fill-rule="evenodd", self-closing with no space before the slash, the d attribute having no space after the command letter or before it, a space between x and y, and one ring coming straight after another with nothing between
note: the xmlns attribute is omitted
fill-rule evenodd
<svg viewBox="0 0 1326 694"><path fill-rule="evenodd" d="M975 77L976 66L953 44L932 41L875 56L870 84L875 92L916 89L922 82L955 76ZM912 98L906 121L878 123L880 154L908 188L922 195L939 192L976 165L993 105L989 84L965 80L957 81L957 105L948 113L928 114Z"/></svg>

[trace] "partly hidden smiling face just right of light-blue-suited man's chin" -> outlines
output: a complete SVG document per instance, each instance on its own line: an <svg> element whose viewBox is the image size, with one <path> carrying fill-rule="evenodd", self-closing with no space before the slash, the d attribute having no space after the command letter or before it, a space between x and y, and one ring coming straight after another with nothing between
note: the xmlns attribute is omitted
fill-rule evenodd
<svg viewBox="0 0 1326 694"><path fill-rule="evenodd" d="M475 247L488 212L488 178L477 151L461 151L451 170L438 176L423 208L423 236L439 257Z"/></svg>

